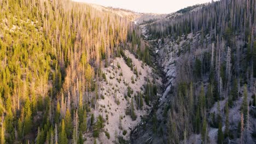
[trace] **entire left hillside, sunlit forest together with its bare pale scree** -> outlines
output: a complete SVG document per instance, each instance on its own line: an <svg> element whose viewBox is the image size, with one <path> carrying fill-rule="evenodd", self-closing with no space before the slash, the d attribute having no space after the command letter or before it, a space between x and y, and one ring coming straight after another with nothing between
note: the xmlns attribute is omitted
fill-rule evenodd
<svg viewBox="0 0 256 144"><path fill-rule="evenodd" d="M129 140L158 91L136 14L61 0L0 11L0 143Z"/></svg>

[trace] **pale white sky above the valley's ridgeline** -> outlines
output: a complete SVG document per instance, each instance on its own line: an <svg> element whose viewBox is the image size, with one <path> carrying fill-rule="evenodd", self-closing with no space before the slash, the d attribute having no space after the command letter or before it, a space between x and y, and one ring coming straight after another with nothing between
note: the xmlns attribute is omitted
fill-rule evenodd
<svg viewBox="0 0 256 144"><path fill-rule="evenodd" d="M212 0L72 0L103 5L105 7L129 9L141 13L168 14L195 4Z"/></svg>

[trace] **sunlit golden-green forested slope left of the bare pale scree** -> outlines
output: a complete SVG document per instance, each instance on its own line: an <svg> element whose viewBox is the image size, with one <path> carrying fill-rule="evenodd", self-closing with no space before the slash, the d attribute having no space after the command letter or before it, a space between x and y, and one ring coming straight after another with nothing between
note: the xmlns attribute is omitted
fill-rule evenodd
<svg viewBox="0 0 256 144"><path fill-rule="evenodd" d="M0 143L83 143L91 130L97 137L104 118L91 109L106 79L101 68L124 47L140 49L138 28L66 0L1 0L0 11Z"/></svg>

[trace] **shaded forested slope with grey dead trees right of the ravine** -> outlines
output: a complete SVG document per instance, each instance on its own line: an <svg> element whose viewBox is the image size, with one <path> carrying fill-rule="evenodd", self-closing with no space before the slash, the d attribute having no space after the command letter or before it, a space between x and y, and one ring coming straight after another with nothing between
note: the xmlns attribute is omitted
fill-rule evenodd
<svg viewBox="0 0 256 144"><path fill-rule="evenodd" d="M191 143L191 136L201 135L201 143L213 143L218 129L214 142L255 142L255 11L254 0L222 0L146 25L152 43L164 51L160 65L172 53L177 74L170 102L160 106L159 141Z"/></svg>

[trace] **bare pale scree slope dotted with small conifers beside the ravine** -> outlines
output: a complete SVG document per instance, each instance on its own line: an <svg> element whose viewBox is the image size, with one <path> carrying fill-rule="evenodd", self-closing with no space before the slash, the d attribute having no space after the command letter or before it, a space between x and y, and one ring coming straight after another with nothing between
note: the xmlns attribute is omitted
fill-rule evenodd
<svg viewBox="0 0 256 144"><path fill-rule="evenodd" d="M95 116L106 117L105 134L100 135L100 143L119 143L122 139L129 141L130 131L150 112L150 101L154 99L156 86L161 83L154 69L129 51L124 54L131 61L130 67L125 57L117 57L102 70L106 77L100 84L98 95L101 99L94 110ZM147 93L147 89L152 89L152 92Z"/></svg>

